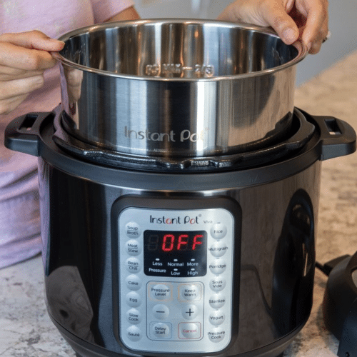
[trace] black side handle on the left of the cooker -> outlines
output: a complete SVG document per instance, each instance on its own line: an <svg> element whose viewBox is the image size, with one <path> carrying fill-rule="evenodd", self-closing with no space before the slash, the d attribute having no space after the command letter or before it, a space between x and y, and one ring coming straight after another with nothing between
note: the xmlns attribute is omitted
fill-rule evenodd
<svg viewBox="0 0 357 357"><path fill-rule="evenodd" d="M40 129L51 113L28 113L11 121L5 129L6 148L32 156L39 156Z"/></svg>

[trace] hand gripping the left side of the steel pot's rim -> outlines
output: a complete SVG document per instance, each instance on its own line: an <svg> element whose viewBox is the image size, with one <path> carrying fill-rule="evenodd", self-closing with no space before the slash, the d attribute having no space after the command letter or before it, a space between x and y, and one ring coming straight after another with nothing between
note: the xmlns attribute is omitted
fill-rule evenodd
<svg viewBox="0 0 357 357"><path fill-rule="evenodd" d="M63 47L40 31L0 35L0 114L13 111L44 85L44 71L56 64L49 51Z"/></svg>

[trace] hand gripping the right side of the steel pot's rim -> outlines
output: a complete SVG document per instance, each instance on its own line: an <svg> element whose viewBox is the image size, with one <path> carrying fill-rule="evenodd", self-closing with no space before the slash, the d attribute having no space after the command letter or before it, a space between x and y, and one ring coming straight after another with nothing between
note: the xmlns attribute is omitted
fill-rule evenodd
<svg viewBox="0 0 357 357"><path fill-rule="evenodd" d="M317 54L328 36L328 0L236 0L218 19L271 26L286 44L301 39Z"/></svg>

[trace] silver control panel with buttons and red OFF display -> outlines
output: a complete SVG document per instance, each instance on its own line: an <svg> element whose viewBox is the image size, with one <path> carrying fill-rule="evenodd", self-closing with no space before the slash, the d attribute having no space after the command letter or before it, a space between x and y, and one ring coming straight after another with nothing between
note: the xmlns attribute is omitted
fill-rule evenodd
<svg viewBox="0 0 357 357"><path fill-rule="evenodd" d="M228 346L235 223L226 208L120 211L118 327L126 348L212 353Z"/></svg>

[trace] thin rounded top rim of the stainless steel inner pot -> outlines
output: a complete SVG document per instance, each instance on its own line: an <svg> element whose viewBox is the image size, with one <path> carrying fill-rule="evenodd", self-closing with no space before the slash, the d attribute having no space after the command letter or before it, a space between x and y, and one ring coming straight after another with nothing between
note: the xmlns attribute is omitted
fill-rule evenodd
<svg viewBox="0 0 357 357"><path fill-rule="evenodd" d="M130 20L130 21L114 21L114 22L108 22L108 23L103 23L103 24L96 24L96 25L91 25L91 26L85 26L81 27L79 29L75 29L73 31L69 31L66 34L63 34L59 36L58 40L59 41L68 41L71 39L71 37L78 36L80 34L84 34L85 32L93 32L98 29L110 29L114 27L124 27L124 26L139 26L143 24L201 24L201 25L219 25L221 27L239 27L242 29L246 30L251 30L255 32L260 32L261 34L267 34L270 36L277 37L280 39L278 34L276 34L273 29L269 27L262 27L262 26L256 26L252 24L246 24L243 22L226 22L226 21L219 21L219 20L200 20L200 19L142 19L142 20ZM282 40L281 40L282 41ZM136 79L136 80L141 80L141 81L157 81L157 82L206 82L206 81L222 81L222 80L234 80L234 79L246 79L246 78L251 78L251 77L256 77L256 76L263 76L266 74L273 74L276 73L277 71L282 71L283 69L287 69L288 67L294 66L298 64L298 62L302 61L308 54L308 49L306 44L303 43L300 39L296 41L292 45L286 45L286 46L294 46L298 54L297 56L292 59L291 61L286 62L285 64L281 64L280 66L273 67L271 69L263 69L262 71L253 71L253 72L248 72L245 74L228 74L224 76L212 76L212 77L204 77L204 78L165 78L165 77L159 77L159 76L142 76L142 75L134 75L134 74L118 74L115 72L111 71L104 71L102 69L94 69L92 67L84 66L82 64L76 64L73 61L69 61L69 59L64 58L59 52L54 52L51 51L50 54L51 56L56 59L56 61L59 61L61 64L65 66L70 66L74 69L79 69L81 71L86 71L86 72L91 72L93 74L100 74L104 76L110 76L110 77L116 77L116 78L122 78L122 79Z"/></svg>

